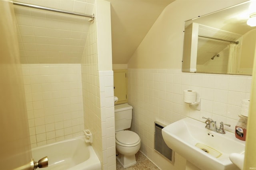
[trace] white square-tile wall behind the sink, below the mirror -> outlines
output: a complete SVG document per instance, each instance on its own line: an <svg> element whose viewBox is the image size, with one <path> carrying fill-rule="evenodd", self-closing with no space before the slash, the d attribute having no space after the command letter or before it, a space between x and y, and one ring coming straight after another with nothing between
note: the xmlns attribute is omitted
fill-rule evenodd
<svg viewBox="0 0 256 170"><path fill-rule="evenodd" d="M234 133L241 102L250 98L252 76L228 74L184 73L168 69L128 69L128 102L133 106L132 130L141 138L140 150L162 170L185 170L182 156L176 154L175 164L154 151L154 121L165 125L184 117L204 121L210 117L223 121ZM191 109L183 102L183 90L196 90L201 110Z"/></svg>

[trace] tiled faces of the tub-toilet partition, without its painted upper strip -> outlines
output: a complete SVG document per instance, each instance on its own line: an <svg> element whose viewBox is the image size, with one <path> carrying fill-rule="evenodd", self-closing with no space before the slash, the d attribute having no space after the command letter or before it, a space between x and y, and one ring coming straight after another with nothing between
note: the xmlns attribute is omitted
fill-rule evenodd
<svg viewBox="0 0 256 170"><path fill-rule="evenodd" d="M82 57L84 126L94 135L92 147L102 169L116 169L113 71L98 71L96 22L90 25Z"/></svg>

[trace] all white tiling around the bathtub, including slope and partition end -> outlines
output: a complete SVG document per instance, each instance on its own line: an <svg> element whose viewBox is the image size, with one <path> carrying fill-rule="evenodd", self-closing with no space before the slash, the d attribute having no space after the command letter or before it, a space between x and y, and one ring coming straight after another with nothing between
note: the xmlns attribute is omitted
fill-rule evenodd
<svg viewBox="0 0 256 170"><path fill-rule="evenodd" d="M95 12L94 0L20 2ZM32 147L90 129L102 169L116 169L113 72L98 72L96 21L24 7L15 12L22 63L49 63L23 64Z"/></svg>

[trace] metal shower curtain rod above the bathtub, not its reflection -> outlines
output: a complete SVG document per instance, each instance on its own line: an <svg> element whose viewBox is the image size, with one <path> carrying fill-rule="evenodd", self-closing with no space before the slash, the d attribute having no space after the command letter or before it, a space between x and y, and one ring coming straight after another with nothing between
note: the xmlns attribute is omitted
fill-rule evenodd
<svg viewBox="0 0 256 170"><path fill-rule="evenodd" d="M94 17L94 14L92 14L92 15L81 14L81 13L76 13L76 12L69 12L69 11L57 10L57 9L53 9L53 8L47 8L47 7L44 7L44 6L38 6L38 5L33 5L33 4L26 4L26 3L15 2L15 1L13 1L13 4L14 4L14 5L18 5L18 6L25 6L25 7L29 7L29 8L40 9L40 10L58 12L58 13L62 13L62 14L70 14L70 15L75 15L75 16L87 17L87 18L90 18L89 21L92 21L92 20L94 20L94 18L95 18L95 17Z"/></svg>

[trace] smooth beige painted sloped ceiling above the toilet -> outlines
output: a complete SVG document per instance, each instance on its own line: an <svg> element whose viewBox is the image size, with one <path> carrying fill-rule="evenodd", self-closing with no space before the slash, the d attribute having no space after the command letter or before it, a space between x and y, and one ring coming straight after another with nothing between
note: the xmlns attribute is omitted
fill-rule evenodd
<svg viewBox="0 0 256 170"><path fill-rule="evenodd" d="M112 63L127 64L158 16L174 0L106 0L111 3Z"/></svg>

